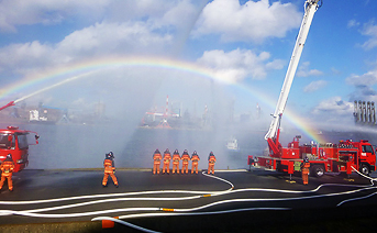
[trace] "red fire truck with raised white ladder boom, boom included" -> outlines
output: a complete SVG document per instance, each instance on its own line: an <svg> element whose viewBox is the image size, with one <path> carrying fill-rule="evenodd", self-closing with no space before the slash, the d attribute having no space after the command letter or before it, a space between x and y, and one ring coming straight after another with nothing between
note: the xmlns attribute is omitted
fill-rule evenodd
<svg viewBox="0 0 377 233"><path fill-rule="evenodd" d="M277 102L273 121L265 140L268 143L267 156L248 156L248 165L263 167L271 170L288 171L293 174L300 170L303 158L310 162L310 174L321 177L326 171L346 171L351 174L353 169L359 170L364 175L369 175L376 170L376 153L366 140L352 142L341 141L339 144L309 144L299 145L300 136L296 136L288 147L282 147L279 142L280 121L285 110L288 93L297 70L297 66L302 53L309 27L315 11L322 5L320 0L307 0L304 3L304 15L301 27L297 36L293 53L288 66L286 78Z"/></svg>

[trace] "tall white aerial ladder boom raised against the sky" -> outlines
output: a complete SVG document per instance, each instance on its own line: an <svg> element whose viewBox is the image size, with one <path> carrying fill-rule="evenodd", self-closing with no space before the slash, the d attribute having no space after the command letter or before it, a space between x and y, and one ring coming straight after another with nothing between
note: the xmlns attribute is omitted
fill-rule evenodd
<svg viewBox="0 0 377 233"><path fill-rule="evenodd" d="M273 151L274 154L279 153L279 149L278 149L279 127L280 127L281 115L286 108L289 90L295 78L297 66L301 57L301 53L302 53L303 45L306 43L308 33L309 33L311 22L313 20L315 11L319 9L319 7L321 7L319 2L322 2L322 1L321 0L307 0L304 3L304 14L301 22L300 31L296 40L296 45L295 45L293 53L289 62L288 70L286 74L285 81L282 84L282 88L281 88L281 92L280 92L277 106L276 106L276 110L275 110L275 113L273 114L274 119L271 121L271 124L269 126L267 134L265 135L265 140L267 140L269 148Z"/></svg>

